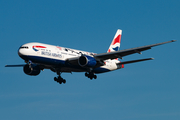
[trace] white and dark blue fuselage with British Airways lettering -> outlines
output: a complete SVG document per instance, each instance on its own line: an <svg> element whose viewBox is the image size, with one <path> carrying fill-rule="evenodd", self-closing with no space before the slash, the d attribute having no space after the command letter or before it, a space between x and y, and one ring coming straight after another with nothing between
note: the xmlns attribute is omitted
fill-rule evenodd
<svg viewBox="0 0 180 120"><path fill-rule="evenodd" d="M65 47L48 45L43 43L27 43L22 45L18 51L19 56L25 61L32 61L33 63L44 65L47 69L60 68L62 72L85 72L85 68L71 66L66 64L68 59L80 57L81 55L92 56L96 53L75 50ZM116 63L118 60L105 60L105 65L98 68L93 68L94 73L103 73L119 69Z"/></svg>

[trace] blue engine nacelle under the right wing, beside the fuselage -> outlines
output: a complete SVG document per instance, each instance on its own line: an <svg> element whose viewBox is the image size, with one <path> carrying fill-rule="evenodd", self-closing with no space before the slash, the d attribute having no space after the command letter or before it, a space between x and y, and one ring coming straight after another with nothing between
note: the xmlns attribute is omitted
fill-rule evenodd
<svg viewBox="0 0 180 120"><path fill-rule="evenodd" d="M96 59L91 56L82 55L79 58L78 63L81 67L94 67L97 62Z"/></svg>

